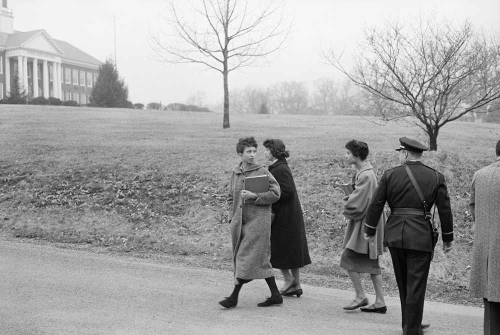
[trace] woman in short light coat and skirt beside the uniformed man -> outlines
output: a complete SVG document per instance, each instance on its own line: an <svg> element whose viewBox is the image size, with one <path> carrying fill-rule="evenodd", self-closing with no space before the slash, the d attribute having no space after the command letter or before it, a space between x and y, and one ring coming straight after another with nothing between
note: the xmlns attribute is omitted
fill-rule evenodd
<svg viewBox="0 0 500 335"><path fill-rule="evenodd" d="M347 270L354 285L356 296L344 309L356 309L366 306L366 298L361 284L360 273L369 273L375 288L375 302L361 308L365 312L385 313L387 307L383 299L383 286L378 256L383 253L383 227L385 225L385 214L382 214L378 221L376 238L373 243L369 243L364 238L364 221L369 204L373 198L373 193L377 187L377 180L373 167L366 161L368 155L368 145L355 139L345 144L345 159L349 164L357 168L354 178L352 193L343 198L343 215L348 219L342 247L344 250L340 258L340 267Z"/></svg>

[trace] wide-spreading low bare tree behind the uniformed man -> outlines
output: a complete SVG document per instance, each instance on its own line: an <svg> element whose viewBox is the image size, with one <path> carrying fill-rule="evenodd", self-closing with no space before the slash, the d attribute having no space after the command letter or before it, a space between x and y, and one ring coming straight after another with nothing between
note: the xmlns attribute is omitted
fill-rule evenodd
<svg viewBox="0 0 500 335"><path fill-rule="evenodd" d="M406 26L387 21L365 29L359 46L352 71L332 49L322 55L372 94L371 107L382 121L403 119L422 128L431 150L444 124L500 108L497 33L487 39L469 21L455 26L431 13Z"/></svg>

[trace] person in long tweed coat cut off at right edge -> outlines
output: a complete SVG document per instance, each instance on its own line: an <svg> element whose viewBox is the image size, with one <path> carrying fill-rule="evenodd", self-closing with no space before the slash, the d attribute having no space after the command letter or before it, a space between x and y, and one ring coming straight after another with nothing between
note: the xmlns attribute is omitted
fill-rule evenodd
<svg viewBox="0 0 500 335"><path fill-rule="evenodd" d="M474 173L469 208L475 222L469 294L484 299L484 334L500 334L500 140L495 162Z"/></svg>

